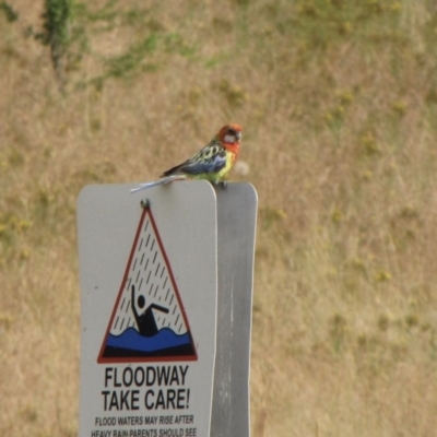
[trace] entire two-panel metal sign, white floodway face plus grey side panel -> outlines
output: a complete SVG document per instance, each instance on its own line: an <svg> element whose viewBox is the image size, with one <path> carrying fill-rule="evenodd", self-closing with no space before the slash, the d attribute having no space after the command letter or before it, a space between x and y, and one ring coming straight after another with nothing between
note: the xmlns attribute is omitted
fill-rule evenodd
<svg viewBox="0 0 437 437"><path fill-rule="evenodd" d="M131 188L79 197L80 437L248 436L256 191Z"/></svg>

